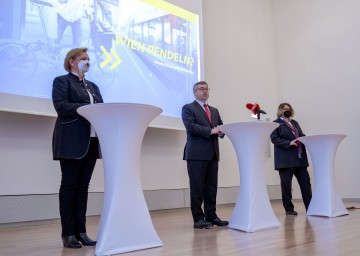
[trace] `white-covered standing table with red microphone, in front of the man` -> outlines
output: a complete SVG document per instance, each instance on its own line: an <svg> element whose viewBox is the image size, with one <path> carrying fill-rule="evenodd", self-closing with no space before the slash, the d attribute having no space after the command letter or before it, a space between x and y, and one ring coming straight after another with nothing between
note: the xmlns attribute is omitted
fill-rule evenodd
<svg viewBox="0 0 360 256"><path fill-rule="evenodd" d="M229 228L246 232L279 227L265 182L266 144L274 122L241 122L220 126L234 145L240 172L240 191Z"/></svg>

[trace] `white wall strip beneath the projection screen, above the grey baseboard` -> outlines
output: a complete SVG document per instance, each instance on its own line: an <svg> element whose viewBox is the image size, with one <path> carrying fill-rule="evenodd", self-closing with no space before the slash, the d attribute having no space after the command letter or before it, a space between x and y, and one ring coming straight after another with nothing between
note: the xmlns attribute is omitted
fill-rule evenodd
<svg viewBox="0 0 360 256"><path fill-rule="evenodd" d="M58 193L61 172L52 160L55 118L0 112L0 196ZM185 132L149 128L142 147L144 190L188 187L182 160ZM102 161L97 162L90 192L103 191Z"/></svg>

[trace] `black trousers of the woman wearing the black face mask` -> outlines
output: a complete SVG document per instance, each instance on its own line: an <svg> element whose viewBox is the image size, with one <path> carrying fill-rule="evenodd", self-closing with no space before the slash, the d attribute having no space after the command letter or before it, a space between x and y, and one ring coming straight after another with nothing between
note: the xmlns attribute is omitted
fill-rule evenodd
<svg viewBox="0 0 360 256"><path fill-rule="evenodd" d="M299 166L293 168L284 168L279 170L280 181L281 181L281 194L282 202L286 212L293 211L294 205L292 200L292 178L295 175L301 190L301 195L307 210L311 201L311 183L310 175L307 171L307 167Z"/></svg>

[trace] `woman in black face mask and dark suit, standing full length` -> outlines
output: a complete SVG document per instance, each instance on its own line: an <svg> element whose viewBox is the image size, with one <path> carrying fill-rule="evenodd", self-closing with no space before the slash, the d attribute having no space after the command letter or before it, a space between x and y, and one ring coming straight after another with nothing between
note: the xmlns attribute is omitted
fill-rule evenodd
<svg viewBox="0 0 360 256"><path fill-rule="evenodd" d="M306 149L298 138L305 136L300 125L293 119L295 112L289 103L281 103L277 110L279 123L270 135L274 144L275 170L279 172L281 182L282 202L286 214L297 215L292 203L292 178L295 175L301 190L301 195L307 210L312 197L309 166Z"/></svg>

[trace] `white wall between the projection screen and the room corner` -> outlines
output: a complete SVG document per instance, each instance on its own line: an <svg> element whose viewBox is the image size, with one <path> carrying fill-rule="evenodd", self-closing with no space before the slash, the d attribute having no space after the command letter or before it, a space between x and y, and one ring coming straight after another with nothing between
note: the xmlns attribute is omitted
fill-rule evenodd
<svg viewBox="0 0 360 256"><path fill-rule="evenodd" d="M205 79L210 104L225 123L253 121L246 103L259 103L275 118L277 84L271 4L262 0L203 1ZM220 185L239 184L234 149L229 139L220 143ZM278 185L273 159L267 159L267 184Z"/></svg>

